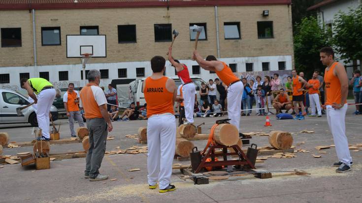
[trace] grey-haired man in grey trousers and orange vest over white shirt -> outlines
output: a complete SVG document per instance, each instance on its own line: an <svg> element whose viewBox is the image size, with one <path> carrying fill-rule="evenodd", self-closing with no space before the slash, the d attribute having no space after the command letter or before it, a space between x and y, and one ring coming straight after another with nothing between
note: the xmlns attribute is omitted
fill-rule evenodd
<svg viewBox="0 0 362 203"><path fill-rule="evenodd" d="M108 132L113 129L107 111L107 99L98 87L99 70L90 70L87 74L89 83L80 91L80 107L84 108L89 131L89 150L86 158L84 177L90 181L105 180L107 175L99 174L100 164L105 152Z"/></svg>

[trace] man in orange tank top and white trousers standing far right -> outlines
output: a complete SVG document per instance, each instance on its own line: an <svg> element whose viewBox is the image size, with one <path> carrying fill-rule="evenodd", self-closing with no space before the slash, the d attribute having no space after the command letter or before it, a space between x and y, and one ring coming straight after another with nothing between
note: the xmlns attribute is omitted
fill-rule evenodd
<svg viewBox="0 0 362 203"><path fill-rule="evenodd" d="M348 78L345 67L334 61L334 52L330 47L320 50L320 58L327 68L324 74L327 121L330 132L333 135L335 151L338 162L336 172L343 173L351 170L352 157L348 148L346 137L346 112L348 95Z"/></svg>

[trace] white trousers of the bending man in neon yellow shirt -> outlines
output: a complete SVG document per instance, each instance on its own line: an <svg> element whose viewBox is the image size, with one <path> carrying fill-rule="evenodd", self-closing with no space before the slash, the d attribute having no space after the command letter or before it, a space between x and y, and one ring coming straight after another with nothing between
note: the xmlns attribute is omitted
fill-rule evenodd
<svg viewBox="0 0 362 203"><path fill-rule="evenodd" d="M42 130L42 136L50 139L49 134L49 112L55 99L55 89L44 89L38 94L36 119L39 128Z"/></svg>

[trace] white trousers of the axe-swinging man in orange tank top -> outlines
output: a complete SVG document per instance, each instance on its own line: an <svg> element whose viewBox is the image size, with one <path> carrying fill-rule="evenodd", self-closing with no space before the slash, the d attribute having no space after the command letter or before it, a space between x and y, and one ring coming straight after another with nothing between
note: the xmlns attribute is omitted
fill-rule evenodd
<svg viewBox="0 0 362 203"><path fill-rule="evenodd" d="M241 99L243 96L244 85L237 82L228 87L228 116L230 123L233 124L237 130L240 130L240 112L241 112Z"/></svg>

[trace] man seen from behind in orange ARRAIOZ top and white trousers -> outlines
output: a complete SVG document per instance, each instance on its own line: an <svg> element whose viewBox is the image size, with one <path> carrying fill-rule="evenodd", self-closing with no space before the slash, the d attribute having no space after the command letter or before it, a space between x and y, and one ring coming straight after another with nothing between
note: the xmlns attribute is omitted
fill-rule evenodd
<svg viewBox="0 0 362 203"><path fill-rule="evenodd" d="M175 190L170 184L172 161L175 154L176 119L173 104L176 99L176 84L164 76L165 58L151 59L152 75L143 82L147 103L147 170L150 189L164 193Z"/></svg>

